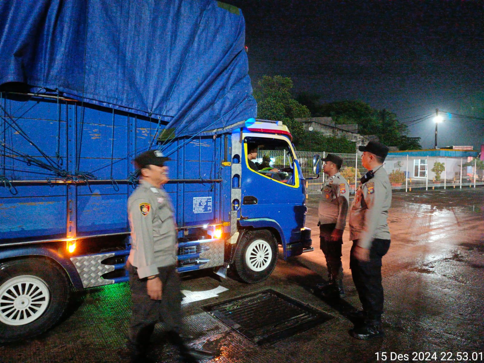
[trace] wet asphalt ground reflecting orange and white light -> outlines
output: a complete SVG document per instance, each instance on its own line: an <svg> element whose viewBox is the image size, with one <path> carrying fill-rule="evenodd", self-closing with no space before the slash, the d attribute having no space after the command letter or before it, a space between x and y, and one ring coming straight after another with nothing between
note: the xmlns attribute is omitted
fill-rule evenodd
<svg viewBox="0 0 484 363"><path fill-rule="evenodd" d="M385 336L368 341L348 334L353 327L348 312L361 308L349 270L348 230L342 257L346 297L328 299L314 292L327 270L318 250L318 196L310 196L307 204L306 226L313 229L315 251L289 261L279 258L266 281L247 285L209 271L183 275L185 290L228 289L183 305L191 345L216 352L205 362L483 362L483 187L393 194L392 243L382 267ZM258 346L203 309L268 288L332 318ZM76 292L60 324L36 338L0 345L0 362L121 362L117 353L124 347L130 306L127 284ZM177 362L175 349L162 347L162 331L158 324L151 358Z"/></svg>

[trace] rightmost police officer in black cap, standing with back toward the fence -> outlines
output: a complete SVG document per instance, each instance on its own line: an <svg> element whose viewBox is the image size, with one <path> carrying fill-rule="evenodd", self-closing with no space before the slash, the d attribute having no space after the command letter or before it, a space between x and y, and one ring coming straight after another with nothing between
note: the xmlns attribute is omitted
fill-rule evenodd
<svg viewBox="0 0 484 363"><path fill-rule="evenodd" d="M363 311L353 317L363 324L356 324L351 335L369 339L383 335L381 257L390 248L387 216L392 203L392 186L383 168L388 147L370 141L358 149L363 151L362 165L368 172L361 179L349 211L349 238L353 241L349 267L363 305Z"/></svg>

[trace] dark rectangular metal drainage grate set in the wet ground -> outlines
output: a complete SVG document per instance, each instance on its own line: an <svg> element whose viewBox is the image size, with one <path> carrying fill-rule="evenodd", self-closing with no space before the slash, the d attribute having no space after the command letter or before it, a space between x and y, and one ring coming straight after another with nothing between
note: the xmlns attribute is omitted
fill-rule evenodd
<svg viewBox="0 0 484 363"><path fill-rule="evenodd" d="M274 343L333 318L272 289L204 309L258 345Z"/></svg>

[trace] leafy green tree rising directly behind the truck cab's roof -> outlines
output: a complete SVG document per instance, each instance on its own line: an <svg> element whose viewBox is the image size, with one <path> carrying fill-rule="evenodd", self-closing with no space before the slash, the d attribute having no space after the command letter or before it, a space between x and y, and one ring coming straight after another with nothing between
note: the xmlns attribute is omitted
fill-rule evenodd
<svg viewBox="0 0 484 363"><path fill-rule="evenodd" d="M254 98L257 101L257 118L282 121L297 145L305 137L305 131L302 123L294 119L310 117L311 113L306 106L292 98L292 86L289 77L262 76L254 89Z"/></svg>

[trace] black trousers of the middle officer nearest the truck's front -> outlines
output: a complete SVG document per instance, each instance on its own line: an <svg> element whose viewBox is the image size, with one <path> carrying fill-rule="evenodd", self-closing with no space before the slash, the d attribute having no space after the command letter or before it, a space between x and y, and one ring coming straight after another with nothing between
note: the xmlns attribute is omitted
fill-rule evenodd
<svg viewBox="0 0 484 363"><path fill-rule="evenodd" d="M336 242L330 240L334 227L336 227L336 223L320 225L319 241L320 248L326 258L328 278L335 281L343 279L343 264L341 263L341 245L343 244L343 238L340 238Z"/></svg>

